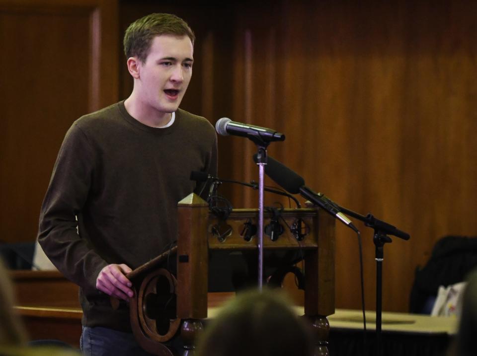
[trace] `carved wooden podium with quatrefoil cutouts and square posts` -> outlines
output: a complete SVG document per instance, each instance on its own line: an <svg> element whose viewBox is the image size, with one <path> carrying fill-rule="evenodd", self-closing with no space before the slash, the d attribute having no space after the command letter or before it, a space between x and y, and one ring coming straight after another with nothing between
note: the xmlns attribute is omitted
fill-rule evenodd
<svg viewBox="0 0 477 356"><path fill-rule="evenodd" d="M281 217L288 226L301 224L307 233L297 236L284 226L283 234L275 241L264 235L264 249L303 251L305 317L315 330L315 355L328 355L326 317L335 310L335 220L317 208L285 209ZM270 218L270 214L264 214L265 225ZM156 355L172 355L163 343L180 329L184 355L193 354L194 340L203 328L201 320L207 318L209 250L256 250L257 236L242 236L245 227L250 225L258 225L257 209L235 209L226 221L221 221L195 194L178 203L177 281L157 267L161 258L132 272L135 273L132 280L136 294L130 301L131 324L136 339L145 350ZM168 325L158 322L154 315L157 309L148 305L160 299L156 296L158 285L164 284L168 289L166 294L175 292L177 301L176 314L169 312Z"/></svg>

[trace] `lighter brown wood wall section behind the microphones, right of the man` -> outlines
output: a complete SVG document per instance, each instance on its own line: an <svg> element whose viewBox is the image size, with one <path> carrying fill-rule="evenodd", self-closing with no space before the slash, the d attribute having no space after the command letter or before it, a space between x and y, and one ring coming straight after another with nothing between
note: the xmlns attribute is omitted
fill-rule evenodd
<svg viewBox="0 0 477 356"><path fill-rule="evenodd" d="M384 309L406 311L414 269L435 241L477 235L477 3L268 5L237 7L232 117L285 133L269 153L309 187L411 234L386 245L384 261ZM257 177L244 141L230 140L224 176ZM237 205L255 199L232 192ZM373 232L357 225L373 309ZM358 308L356 236L340 224L336 232L336 305Z"/></svg>

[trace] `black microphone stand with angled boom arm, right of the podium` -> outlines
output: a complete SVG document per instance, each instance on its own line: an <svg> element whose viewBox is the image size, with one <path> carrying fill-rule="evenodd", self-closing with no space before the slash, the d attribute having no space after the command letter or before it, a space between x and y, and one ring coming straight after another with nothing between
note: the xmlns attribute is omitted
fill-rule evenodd
<svg viewBox="0 0 477 356"><path fill-rule="evenodd" d="M377 356L382 354L382 313L383 313L383 261L384 261L384 244L393 242L388 236L393 235L403 240L409 240L410 236L404 231L398 230L395 226L377 219L372 214L363 216L346 208L339 207L339 210L349 216L355 217L364 222L368 227L374 229L373 242L375 245L376 260L376 350Z"/></svg>

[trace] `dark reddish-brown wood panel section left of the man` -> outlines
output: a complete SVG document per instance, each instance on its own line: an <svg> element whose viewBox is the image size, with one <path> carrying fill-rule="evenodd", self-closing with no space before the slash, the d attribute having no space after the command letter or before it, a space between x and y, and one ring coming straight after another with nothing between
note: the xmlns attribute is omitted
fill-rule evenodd
<svg viewBox="0 0 477 356"><path fill-rule="evenodd" d="M66 131L117 101L117 20L111 0L0 0L0 240L35 240Z"/></svg>

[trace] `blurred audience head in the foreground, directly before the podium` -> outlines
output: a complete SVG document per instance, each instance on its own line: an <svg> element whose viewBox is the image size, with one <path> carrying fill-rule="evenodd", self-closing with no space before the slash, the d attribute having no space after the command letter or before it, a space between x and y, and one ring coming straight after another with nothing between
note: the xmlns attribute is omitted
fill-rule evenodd
<svg viewBox="0 0 477 356"><path fill-rule="evenodd" d="M310 356L310 327L280 291L238 294L206 326L198 356Z"/></svg>

